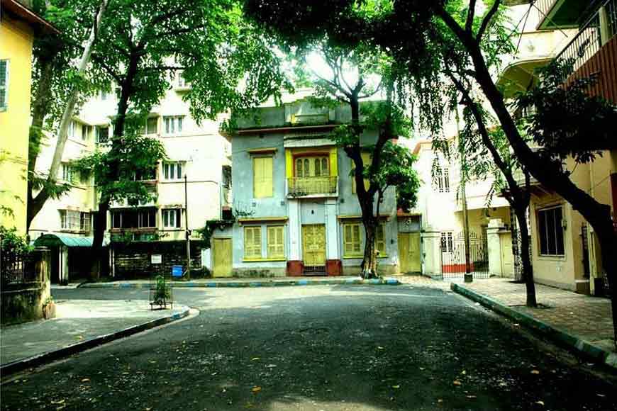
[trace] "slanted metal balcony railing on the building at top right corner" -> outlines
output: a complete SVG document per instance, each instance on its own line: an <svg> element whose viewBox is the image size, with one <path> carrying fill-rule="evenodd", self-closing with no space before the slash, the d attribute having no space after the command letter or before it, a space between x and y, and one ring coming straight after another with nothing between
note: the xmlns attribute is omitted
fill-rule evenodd
<svg viewBox="0 0 617 411"><path fill-rule="evenodd" d="M594 57L604 44L600 10L596 11L587 23L581 26L576 37L555 57L564 66L562 73L564 81L582 67L585 62L589 61L591 57ZM604 36L604 40L608 40L617 33L617 0L606 1L604 10L606 11L607 20L607 33Z"/></svg>

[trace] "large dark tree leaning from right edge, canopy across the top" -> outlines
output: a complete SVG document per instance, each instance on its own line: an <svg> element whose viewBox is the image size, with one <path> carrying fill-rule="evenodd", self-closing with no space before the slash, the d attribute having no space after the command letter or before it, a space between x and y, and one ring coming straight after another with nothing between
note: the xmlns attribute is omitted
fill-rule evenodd
<svg viewBox="0 0 617 411"><path fill-rule="evenodd" d="M328 35L348 43L368 42L381 47L396 62L408 68L409 79L416 91L426 91L425 96L418 94L416 97L428 123L433 120L435 107L440 106L440 101L431 103L438 99L435 90L443 82L440 74L444 61L435 58L433 50L441 46L443 34L452 35L469 58L469 66L465 67L466 76L482 91L518 162L540 184L565 198L594 228L602 251L603 266L611 284L617 342L617 261L612 258L613 250L617 249L617 234L613 229L611 208L577 187L569 178L571 173L563 161L563 154L584 161L598 150L615 150L617 139L614 138L614 130L613 133L606 133L611 130L592 128L593 133L587 135L572 129L567 133L547 133L560 141L560 150L553 152L551 146L532 150L517 127L506 97L496 85L495 73L491 73L490 59L499 56L485 55L483 52L486 43L494 40L491 33L503 30L500 24L500 18L504 16L502 6L501 0L299 0L292 5L277 0L247 1L247 10L251 15L267 24L282 27L286 33L296 32L313 37ZM552 96L558 98L560 94L555 90ZM598 111L605 112L601 108ZM541 122L538 125L539 128L546 127ZM578 125L577 129L582 130L582 124L579 122Z"/></svg>

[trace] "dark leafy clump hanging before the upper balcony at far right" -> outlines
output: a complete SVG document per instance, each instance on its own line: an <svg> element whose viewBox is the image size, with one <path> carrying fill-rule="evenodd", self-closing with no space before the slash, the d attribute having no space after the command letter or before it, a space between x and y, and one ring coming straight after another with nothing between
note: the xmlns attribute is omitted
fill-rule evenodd
<svg viewBox="0 0 617 411"><path fill-rule="evenodd" d="M564 73L572 72L575 59L554 60L539 70L540 81L518 94L513 106L523 115L524 130L548 162L593 161L602 150L617 147L617 106L600 96L590 96L598 81L591 77L572 79L564 85Z"/></svg>

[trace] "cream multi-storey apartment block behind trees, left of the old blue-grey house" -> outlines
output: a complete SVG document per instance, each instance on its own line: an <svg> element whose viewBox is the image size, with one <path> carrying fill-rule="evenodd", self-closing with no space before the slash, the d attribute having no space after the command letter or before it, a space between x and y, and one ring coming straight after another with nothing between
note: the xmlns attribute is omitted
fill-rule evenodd
<svg viewBox="0 0 617 411"><path fill-rule="evenodd" d="M201 268L201 237L194 230L204 227L206 220L221 218L223 210L230 208L230 142L218 133L218 121L198 124L191 118L189 103L182 100L188 88L177 76L144 121L143 134L160 140L166 157L148 175L135 175L155 194L152 201L137 207L111 204L105 240L111 276L167 273L176 264L186 269L187 232L194 240L191 266ZM40 243L45 240L48 246L57 246L60 274L55 278L61 281L87 276L87 268L69 253L74 247L91 245L90 213L98 207L94 181L75 175L70 160L93 150L108 150L105 143L113 133L116 104L113 93L101 92L74 118L59 173L59 179L70 182L72 188L60 199L45 203L32 226L35 235L47 234ZM43 169L50 164L54 148L55 138L50 138L40 155Z"/></svg>

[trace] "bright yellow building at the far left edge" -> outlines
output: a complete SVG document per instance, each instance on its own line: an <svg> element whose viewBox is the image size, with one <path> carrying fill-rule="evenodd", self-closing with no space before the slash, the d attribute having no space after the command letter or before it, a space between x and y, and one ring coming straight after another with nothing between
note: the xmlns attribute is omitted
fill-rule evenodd
<svg viewBox="0 0 617 411"><path fill-rule="evenodd" d="M57 30L30 0L1 0L0 9L0 225L26 232L26 173L30 130L30 74L35 35Z"/></svg>

